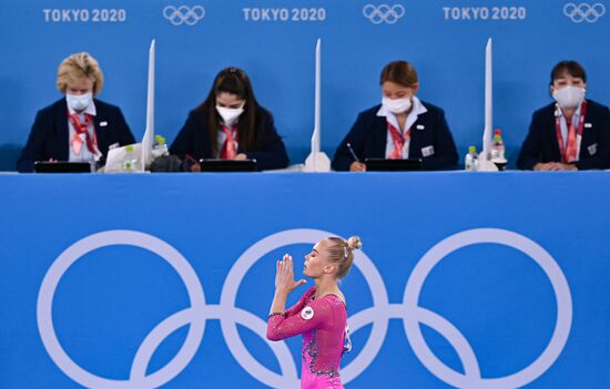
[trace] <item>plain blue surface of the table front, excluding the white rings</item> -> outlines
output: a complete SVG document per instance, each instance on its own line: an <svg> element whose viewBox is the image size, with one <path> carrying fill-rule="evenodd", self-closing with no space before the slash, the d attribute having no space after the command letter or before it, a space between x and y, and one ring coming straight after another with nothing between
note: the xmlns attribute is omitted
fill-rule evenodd
<svg viewBox="0 0 610 389"><path fill-rule="evenodd" d="M55 258L77 240L133 229L175 247L195 269L207 304L218 304L235 260L271 234L315 228L358 234L399 304L415 265L438 242L471 228L505 228L542 246L561 267L573 299L568 342L528 388L602 388L610 382L610 234L608 176L589 173L174 174L0 176L2 266L0 386L79 388L53 364L37 328L35 304ZM309 245L271 252L243 279L236 306L262 319L273 297L275 259L292 253L297 268ZM373 305L357 268L345 278L349 315ZM304 288L303 290L304 291ZM291 301L298 296L291 295ZM189 306L177 275L160 257L131 246L94 250L75 263L55 293L54 325L83 368L125 379L133 355L162 319ZM548 344L556 300L545 273L522 253L495 244L447 256L424 284L420 306L468 339L482 377L531 364ZM362 350L370 326L356 331ZM240 329L253 356L279 371L267 346ZM166 339L151 371L181 347L186 329ZM460 361L446 340L424 327L431 350L451 368ZM299 369L299 339L291 339ZM389 321L373 364L347 388L447 388L414 355L403 323ZM191 364L165 388L264 388L228 351L218 320L209 320Z"/></svg>

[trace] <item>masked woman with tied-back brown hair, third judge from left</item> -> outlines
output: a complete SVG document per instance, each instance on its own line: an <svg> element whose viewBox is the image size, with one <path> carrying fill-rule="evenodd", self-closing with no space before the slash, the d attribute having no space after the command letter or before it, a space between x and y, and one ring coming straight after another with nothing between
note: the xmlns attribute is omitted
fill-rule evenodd
<svg viewBox="0 0 610 389"><path fill-rule="evenodd" d="M419 158L424 170L456 166L454 137L438 106L416 96L417 73L406 61L382 71L382 104L360 112L333 158L336 171L364 172L366 158Z"/></svg>

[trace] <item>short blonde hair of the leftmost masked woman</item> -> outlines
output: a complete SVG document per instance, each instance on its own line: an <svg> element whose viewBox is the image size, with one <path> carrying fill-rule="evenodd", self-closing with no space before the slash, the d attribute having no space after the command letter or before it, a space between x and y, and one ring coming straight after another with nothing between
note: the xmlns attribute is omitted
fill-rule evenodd
<svg viewBox="0 0 610 389"><path fill-rule="evenodd" d="M104 85L104 75L98 61L85 52L72 54L58 68L58 89L65 93L69 82L83 78L93 81L93 96L100 94Z"/></svg>

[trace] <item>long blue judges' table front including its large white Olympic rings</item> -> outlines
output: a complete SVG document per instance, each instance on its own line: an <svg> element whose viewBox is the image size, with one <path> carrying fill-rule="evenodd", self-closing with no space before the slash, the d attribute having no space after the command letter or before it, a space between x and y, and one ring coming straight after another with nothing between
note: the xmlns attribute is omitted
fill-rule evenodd
<svg viewBox="0 0 610 389"><path fill-rule="evenodd" d="M607 387L609 198L603 172L1 175L0 387L297 388L275 260L328 235L364 243L346 388Z"/></svg>

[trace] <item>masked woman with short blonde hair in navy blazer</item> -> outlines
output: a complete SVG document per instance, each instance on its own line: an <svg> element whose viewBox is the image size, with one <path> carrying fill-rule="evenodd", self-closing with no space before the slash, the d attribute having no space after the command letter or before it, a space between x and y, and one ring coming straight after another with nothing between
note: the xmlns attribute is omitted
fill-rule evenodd
<svg viewBox="0 0 610 389"><path fill-rule="evenodd" d="M32 172L37 161L102 163L110 145L135 143L121 110L94 99L102 91L103 74L89 53L63 60L57 86L65 98L38 112L19 172Z"/></svg>

